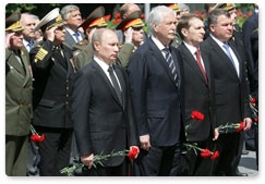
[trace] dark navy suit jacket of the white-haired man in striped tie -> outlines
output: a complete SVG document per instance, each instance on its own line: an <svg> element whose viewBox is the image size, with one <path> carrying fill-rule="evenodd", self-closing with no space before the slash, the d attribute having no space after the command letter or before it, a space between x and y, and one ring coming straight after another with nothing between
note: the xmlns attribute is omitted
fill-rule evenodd
<svg viewBox="0 0 265 184"><path fill-rule="evenodd" d="M138 136L149 134L153 146L172 146L183 138L183 65L170 46L178 73L178 87L161 51L148 38L129 61L128 74Z"/></svg>

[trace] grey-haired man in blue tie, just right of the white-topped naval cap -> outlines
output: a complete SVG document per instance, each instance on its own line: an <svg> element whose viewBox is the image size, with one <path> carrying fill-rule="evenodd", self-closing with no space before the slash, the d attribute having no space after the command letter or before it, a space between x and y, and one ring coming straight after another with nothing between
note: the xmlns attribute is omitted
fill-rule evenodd
<svg viewBox="0 0 265 184"><path fill-rule="evenodd" d="M63 41L70 49L73 45L84 39L85 35L79 26L82 24L80 8L74 4L64 5L61 9L61 16L65 24L65 40Z"/></svg>

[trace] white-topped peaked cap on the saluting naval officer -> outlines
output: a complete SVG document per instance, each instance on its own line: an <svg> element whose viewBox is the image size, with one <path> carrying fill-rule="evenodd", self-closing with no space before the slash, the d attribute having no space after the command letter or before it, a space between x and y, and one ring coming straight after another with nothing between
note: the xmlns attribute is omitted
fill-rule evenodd
<svg viewBox="0 0 265 184"><path fill-rule="evenodd" d="M43 32L45 32L47 29L50 29L51 27L60 27L60 26L63 26L65 24L65 22L62 20L59 11L60 11L59 8L56 8L53 10L51 10L36 25L35 30L38 30L40 28Z"/></svg>

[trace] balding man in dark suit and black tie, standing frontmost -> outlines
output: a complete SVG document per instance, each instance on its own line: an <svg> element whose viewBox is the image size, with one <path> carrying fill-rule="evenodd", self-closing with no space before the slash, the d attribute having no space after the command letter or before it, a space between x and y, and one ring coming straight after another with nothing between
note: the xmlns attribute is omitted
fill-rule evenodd
<svg viewBox="0 0 265 184"><path fill-rule="evenodd" d="M113 30L100 28L93 34L92 45L94 59L76 73L72 105L81 161L88 168L99 154L108 155L138 145L128 76L115 64L118 37ZM115 76L109 70L113 70ZM96 165L93 175L127 175L124 156L111 157L103 164Z"/></svg>

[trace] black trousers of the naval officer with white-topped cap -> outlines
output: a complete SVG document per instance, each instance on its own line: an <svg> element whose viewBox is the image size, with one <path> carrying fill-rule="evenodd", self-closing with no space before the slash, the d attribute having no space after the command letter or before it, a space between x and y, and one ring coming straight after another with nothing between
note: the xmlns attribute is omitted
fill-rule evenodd
<svg viewBox="0 0 265 184"><path fill-rule="evenodd" d="M45 135L39 144L40 176L60 176L60 170L69 167L73 128L40 127Z"/></svg>

